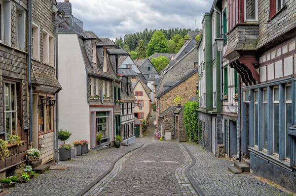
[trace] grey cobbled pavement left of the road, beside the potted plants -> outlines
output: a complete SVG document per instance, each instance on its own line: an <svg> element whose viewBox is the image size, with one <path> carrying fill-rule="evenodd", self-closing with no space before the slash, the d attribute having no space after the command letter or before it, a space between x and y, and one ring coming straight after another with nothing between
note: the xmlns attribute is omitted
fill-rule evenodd
<svg viewBox="0 0 296 196"><path fill-rule="evenodd" d="M65 170L50 170L29 182L17 184L5 196L73 196L105 172L118 157L142 144L107 148L78 156L72 161L59 162Z"/></svg>

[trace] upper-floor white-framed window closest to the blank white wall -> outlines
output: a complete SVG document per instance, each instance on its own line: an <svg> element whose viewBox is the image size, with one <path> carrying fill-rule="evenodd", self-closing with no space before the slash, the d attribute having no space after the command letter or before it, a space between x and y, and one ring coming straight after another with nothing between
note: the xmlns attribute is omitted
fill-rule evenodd
<svg viewBox="0 0 296 196"><path fill-rule="evenodd" d="M43 29L43 62L53 65L53 37Z"/></svg>

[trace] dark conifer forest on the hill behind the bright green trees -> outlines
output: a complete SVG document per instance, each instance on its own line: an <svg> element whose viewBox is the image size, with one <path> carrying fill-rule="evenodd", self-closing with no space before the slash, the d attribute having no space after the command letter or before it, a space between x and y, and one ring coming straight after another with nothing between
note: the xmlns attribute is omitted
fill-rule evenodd
<svg viewBox="0 0 296 196"><path fill-rule="evenodd" d="M187 35L188 31L191 31L190 28L170 28L170 29L159 29L164 37L167 40L170 40L173 38L174 35L179 34L180 37L184 37L185 35ZM116 38L115 39L115 43L117 45L119 45L120 47L123 47L124 45L129 46L131 51L135 51L135 49L139 46L139 42L141 40L144 41L145 46L147 47L149 41L152 38L152 35L155 31L158 31L157 29L150 29L148 30L147 28L142 32L136 32L136 33L130 33L130 34L126 34L124 36L124 39L122 39L122 37L120 38ZM196 29L196 31L198 31L198 29Z"/></svg>

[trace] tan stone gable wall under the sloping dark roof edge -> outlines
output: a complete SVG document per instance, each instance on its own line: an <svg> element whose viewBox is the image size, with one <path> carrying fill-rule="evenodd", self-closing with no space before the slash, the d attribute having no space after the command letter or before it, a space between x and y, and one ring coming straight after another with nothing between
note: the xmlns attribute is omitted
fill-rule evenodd
<svg viewBox="0 0 296 196"><path fill-rule="evenodd" d="M175 96L180 96L181 106L188 101L190 101L190 97L196 95L196 82L198 81L198 73L193 74L189 78L187 78L181 84L175 86L173 89L165 93L159 98L159 111L160 113L166 111L169 107L174 106L174 98Z"/></svg>

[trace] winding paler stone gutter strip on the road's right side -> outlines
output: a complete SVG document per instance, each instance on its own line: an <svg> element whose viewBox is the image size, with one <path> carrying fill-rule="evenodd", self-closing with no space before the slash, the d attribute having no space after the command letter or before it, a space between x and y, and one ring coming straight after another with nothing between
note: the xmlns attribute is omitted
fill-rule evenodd
<svg viewBox="0 0 296 196"><path fill-rule="evenodd" d="M192 158L182 144L179 144L179 146L186 160L185 163L182 164L180 168L177 168L175 172L179 186L181 187L181 192L183 195L198 196L185 174L186 168L188 168L192 164Z"/></svg>

